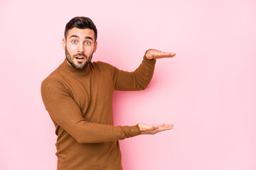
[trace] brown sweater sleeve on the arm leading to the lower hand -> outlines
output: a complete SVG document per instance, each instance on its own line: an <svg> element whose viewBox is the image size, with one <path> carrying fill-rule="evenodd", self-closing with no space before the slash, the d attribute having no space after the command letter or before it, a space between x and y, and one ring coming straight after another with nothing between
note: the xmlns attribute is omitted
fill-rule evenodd
<svg viewBox="0 0 256 170"><path fill-rule="evenodd" d="M123 140L140 135L139 126L114 126L92 123L82 117L68 89L53 78L41 84L41 96L50 117L79 143L98 143Z"/></svg>

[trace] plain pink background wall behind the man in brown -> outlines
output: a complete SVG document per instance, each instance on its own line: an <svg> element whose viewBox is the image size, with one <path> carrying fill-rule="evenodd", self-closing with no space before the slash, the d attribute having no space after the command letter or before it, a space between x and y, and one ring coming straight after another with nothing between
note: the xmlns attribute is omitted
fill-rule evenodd
<svg viewBox="0 0 256 170"><path fill-rule="evenodd" d="M56 169L40 88L74 16L97 26L94 61L132 71L149 48L176 52L145 91L114 93L115 125L174 124L121 141L124 169L256 169L254 0L1 0L0 169Z"/></svg>

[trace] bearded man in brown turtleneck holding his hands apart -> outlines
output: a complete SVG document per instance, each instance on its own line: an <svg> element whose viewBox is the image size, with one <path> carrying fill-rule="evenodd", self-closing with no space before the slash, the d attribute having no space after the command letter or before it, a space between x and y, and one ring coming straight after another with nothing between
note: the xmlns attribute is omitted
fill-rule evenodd
<svg viewBox="0 0 256 170"><path fill-rule="evenodd" d="M122 169L118 140L170 130L173 125L114 126L114 90L145 89L156 59L175 53L147 50L134 72L104 62L91 62L97 50L97 29L87 17L75 17L65 27L65 60L41 85L46 110L58 135L58 169Z"/></svg>

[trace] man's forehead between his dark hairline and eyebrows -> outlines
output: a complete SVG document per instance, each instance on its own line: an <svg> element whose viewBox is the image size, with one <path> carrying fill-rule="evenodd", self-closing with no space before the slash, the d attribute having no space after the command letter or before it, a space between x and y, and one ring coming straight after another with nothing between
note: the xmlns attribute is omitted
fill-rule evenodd
<svg viewBox="0 0 256 170"><path fill-rule="evenodd" d="M85 28L85 29L80 29L80 28L71 28L68 30L68 35L67 38L70 38L72 35L78 35L79 38L85 38L85 37L91 37L92 40L95 40L95 33L94 30Z"/></svg>

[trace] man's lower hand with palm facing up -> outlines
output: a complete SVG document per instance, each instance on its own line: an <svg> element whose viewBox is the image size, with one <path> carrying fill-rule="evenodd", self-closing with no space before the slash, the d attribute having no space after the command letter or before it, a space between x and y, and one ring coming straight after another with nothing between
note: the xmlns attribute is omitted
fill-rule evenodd
<svg viewBox="0 0 256 170"><path fill-rule="evenodd" d="M172 124L166 125L165 123L163 123L161 125L146 125L144 123L139 123L139 130L142 132L142 134L148 135L154 135L157 132L171 130L172 128L174 128L174 125Z"/></svg>

